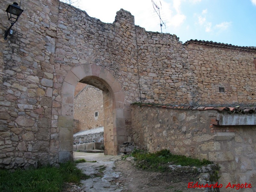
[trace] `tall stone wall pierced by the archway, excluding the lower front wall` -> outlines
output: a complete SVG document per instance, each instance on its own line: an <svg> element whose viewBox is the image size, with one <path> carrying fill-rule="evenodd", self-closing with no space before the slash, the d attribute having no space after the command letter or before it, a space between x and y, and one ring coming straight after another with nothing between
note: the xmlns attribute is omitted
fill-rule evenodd
<svg viewBox="0 0 256 192"><path fill-rule="evenodd" d="M58 0L22 1L5 41L8 4L0 11L1 167L72 158L78 82L103 91L109 155L131 140L133 102L255 105L255 48L182 44L135 26L123 9L107 24Z"/></svg>

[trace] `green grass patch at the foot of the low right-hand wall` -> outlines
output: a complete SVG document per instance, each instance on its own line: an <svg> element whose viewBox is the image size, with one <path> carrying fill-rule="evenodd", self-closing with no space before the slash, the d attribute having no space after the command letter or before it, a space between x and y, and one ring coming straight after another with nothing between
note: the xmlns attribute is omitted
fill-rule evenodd
<svg viewBox="0 0 256 192"><path fill-rule="evenodd" d="M142 150L135 149L131 156L135 157L136 165L142 169L150 169L152 171L167 171L170 164L181 166L196 166L201 167L207 164L213 164L212 161L203 159L193 159L184 155L174 155L169 150L163 149L156 153L147 153Z"/></svg>

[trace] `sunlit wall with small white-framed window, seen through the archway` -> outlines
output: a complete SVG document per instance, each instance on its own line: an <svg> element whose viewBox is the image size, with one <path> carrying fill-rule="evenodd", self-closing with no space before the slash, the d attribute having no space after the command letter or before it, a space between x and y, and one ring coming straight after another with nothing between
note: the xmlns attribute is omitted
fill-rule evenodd
<svg viewBox="0 0 256 192"><path fill-rule="evenodd" d="M78 88L81 88L80 86ZM94 113L98 112L98 117ZM79 122L74 133L103 127L103 93L100 89L86 85L74 98L74 119Z"/></svg>

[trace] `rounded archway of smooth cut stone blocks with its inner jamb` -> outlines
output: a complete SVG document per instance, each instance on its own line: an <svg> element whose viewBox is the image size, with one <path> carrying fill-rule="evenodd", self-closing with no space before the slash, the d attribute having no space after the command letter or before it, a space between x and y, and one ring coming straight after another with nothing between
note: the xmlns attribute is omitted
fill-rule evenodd
<svg viewBox="0 0 256 192"><path fill-rule="evenodd" d="M104 154L117 155L120 145L127 140L124 118L124 93L119 82L105 68L84 64L72 68L61 88L61 115L59 124L59 162L73 156L73 102L78 82L91 84L104 94ZM121 133L121 134L119 134Z"/></svg>

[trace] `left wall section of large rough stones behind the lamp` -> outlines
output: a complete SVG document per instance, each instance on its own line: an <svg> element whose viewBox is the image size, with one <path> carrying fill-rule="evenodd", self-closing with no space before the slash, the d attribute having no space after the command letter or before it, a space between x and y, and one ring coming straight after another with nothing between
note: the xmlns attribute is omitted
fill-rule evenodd
<svg viewBox="0 0 256 192"><path fill-rule="evenodd" d="M52 97L59 1L22 1L18 27L5 41L5 10L12 3L1 1L0 12L0 167L52 164L58 152L58 127L51 121L57 119Z"/></svg>

